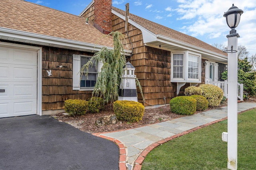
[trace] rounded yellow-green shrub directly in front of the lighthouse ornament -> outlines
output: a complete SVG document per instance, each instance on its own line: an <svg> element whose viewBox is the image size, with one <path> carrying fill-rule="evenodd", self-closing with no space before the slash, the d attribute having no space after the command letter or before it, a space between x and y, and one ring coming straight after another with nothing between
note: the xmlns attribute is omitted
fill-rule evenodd
<svg viewBox="0 0 256 170"><path fill-rule="evenodd" d="M141 103L128 100L117 100L113 107L118 120L130 123L142 120L145 111Z"/></svg>

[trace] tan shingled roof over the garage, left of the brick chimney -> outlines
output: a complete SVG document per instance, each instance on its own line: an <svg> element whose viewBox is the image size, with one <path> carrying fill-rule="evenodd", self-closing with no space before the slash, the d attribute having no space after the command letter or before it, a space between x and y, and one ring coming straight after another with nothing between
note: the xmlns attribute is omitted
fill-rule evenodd
<svg viewBox="0 0 256 170"><path fill-rule="evenodd" d="M92 21L24 0L1 0L1 28L113 47L112 37L102 38Z"/></svg>

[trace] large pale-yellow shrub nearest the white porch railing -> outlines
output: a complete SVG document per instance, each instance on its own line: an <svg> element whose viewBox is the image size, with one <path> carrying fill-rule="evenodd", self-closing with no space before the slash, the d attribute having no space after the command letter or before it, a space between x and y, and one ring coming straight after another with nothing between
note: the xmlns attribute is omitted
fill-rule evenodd
<svg viewBox="0 0 256 170"><path fill-rule="evenodd" d="M212 84L201 84L199 88L202 89L202 96L208 100L209 106L220 105L220 102L223 99L223 91L221 88Z"/></svg>

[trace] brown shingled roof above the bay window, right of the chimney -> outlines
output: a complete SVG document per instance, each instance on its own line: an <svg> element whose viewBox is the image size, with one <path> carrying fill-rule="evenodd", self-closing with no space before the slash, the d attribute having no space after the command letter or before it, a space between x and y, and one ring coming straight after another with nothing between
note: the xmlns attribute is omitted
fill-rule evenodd
<svg viewBox="0 0 256 170"><path fill-rule="evenodd" d="M118 8L112 7L112 10L121 14L122 16L126 15L125 11L120 10ZM204 41L201 41L201 40L199 40L195 37L192 37L190 35L186 35L179 31L175 31L174 29L171 29L171 28L165 27L163 25L160 25L158 23L146 20L146 19L136 16L134 14L129 14L129 19L134 21L141 27L144 27L144 29L147 29L148 31L154 33L155 35L162 35L164 37L168 37L170 39L174 39L174 40L192 45L194 47L198 47L200 49L206 49L213 53L218 53L219 55L227 56L227 54L223 53L220 49L217 49L216 47L213 47L212 45L209 45L208 43L205 43Z"/></svg>

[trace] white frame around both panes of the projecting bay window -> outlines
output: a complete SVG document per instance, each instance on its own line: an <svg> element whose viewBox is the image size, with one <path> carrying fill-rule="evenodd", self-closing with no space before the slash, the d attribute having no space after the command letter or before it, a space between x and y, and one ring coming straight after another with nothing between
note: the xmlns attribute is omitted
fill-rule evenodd
<svg viewBox="0 0 256 170"><path fill-rule="evenodd" d="M173 55L174 54L184 54L184 60L183 60L183 77L184 78L173 78ZM188 78L188 55L194 55L198 56L198 79L193 79L193 78ZM172 51L172 60L171 60L171 82L182 82L182 83L201 83L201 76L202 76L202 68L201 68L201 63L202 63L202 57L201 54L195 53L192 51Z"/></svg>

